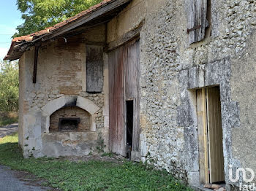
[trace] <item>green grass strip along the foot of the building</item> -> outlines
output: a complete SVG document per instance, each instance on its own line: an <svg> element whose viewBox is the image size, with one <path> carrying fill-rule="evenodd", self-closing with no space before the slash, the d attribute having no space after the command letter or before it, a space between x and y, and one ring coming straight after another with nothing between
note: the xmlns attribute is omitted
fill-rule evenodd
<svg viewBox="0 0 256 191"><path fill-rule="evenodd" d="M18 148L17 134L0 139L0 163L28 171L61 190L191 190L166 171L149 169L141 163L74 163L46 157L24 159Z"/></svg>

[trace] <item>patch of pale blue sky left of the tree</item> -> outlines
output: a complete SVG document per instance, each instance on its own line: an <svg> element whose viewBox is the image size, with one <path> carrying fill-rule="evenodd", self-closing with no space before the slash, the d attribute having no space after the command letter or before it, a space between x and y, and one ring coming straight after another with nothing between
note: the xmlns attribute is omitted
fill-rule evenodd
<svg viewBox="0 0 256 191"><path fill-rule="evenodd" d="M0 0L0 59L7 54L15 28L23 23L16 0Z"/></svg>

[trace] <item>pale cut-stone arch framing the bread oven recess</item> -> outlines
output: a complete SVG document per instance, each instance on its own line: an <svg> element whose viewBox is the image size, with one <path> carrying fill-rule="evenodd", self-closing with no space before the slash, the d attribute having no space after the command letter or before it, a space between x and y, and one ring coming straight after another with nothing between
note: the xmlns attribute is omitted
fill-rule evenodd
<svg viewBox="0 0 256 191"><path fill-rule="evenodd" d="M91 131L96 131L95 118L99 106L94 104L88 98L83 98L79 95L64 95L49 101L48 104L42 107L42 132L49 133L50 128L50 115L65 106L78 106L80 109L85 110L91 114Z"/></svg>

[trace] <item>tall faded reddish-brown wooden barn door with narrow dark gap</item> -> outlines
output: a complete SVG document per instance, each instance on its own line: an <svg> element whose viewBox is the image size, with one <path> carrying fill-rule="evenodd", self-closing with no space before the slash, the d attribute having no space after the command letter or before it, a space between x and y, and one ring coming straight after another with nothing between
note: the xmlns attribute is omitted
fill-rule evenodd
<svg viewBox="0 0 256 191"><path fill-rule="evenodd" d="M126 100L134 100L132 159L140 157L139 40L118 47L109 54L110 151L127 156Z"/></svg>

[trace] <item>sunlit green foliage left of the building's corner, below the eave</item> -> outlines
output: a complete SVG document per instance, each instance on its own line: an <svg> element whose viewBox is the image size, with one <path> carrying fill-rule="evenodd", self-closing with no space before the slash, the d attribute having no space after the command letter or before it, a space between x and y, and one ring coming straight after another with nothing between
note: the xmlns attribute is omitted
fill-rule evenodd
<svg viewBox="0 0 256 191"><path fill-rule="evenodd" d="M18 62L0 61L0 112L18 111Z"/></svg>

